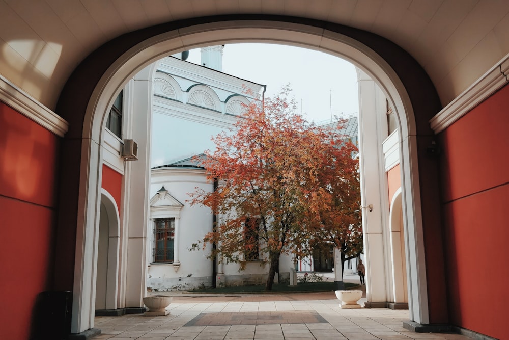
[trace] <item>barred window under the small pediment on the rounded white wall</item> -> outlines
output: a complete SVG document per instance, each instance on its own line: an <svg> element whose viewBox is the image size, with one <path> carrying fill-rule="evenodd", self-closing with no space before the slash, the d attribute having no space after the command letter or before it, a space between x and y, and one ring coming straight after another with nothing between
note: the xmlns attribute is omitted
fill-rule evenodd
<svg viewBox="0 0 509 340"><path fill-rule="evenodd" d="M154 262L173 262L175 218L155 219Z"/></svg>

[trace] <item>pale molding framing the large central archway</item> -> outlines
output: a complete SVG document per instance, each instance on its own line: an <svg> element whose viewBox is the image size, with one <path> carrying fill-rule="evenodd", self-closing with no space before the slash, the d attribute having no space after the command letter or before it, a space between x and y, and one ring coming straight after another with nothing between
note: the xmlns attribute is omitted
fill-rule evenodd
<svg viewBox="0 0 509 340"><path fill-rule="evenodd" d="M416 129L412 104L402 81L375 51L345 35L299 23L232 20L194 25L147 39L119 57L94 88L83 122L71 332L79 333L94 326L91 311L95 284L93 263L97 256L94 234L98 225L103 131L107 109L129 79L158 59L191 48L234 42L280 43L322 51L350 61L369 74L384 91L399 124L403 218L408 228L405 242L411 288L410 318L428 324ZM93 256L88 259L85 254Z"/></svg>

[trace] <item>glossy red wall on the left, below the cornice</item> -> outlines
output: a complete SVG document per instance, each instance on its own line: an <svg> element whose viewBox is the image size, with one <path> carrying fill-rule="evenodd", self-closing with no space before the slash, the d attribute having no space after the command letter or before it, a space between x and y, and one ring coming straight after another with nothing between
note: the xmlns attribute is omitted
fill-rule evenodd
<svg viewBox="0 0 509 340"><path fill-rule="evenodd" d="M60 142L2 102L0 129L0 334L26 340L36 297L52 285Z"/></svg>

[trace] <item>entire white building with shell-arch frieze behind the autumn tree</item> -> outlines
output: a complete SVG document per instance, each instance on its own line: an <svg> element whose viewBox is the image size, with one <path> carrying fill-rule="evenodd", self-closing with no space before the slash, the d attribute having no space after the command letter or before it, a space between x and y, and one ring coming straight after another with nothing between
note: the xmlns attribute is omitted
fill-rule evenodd
<svg viewBox="0 0 509 340"><path fill-rule="evenodd" d="M262 85L217 71L222 65L222 48L202 48L205 67L166 57L157 63L154 73L146 254L147 287L152 290L262 284L267 279L269 266L262 261L250 261L241 272L238 264L225 265L208 259L210 245L205 250L189 251L193 243L212 231L213 214L208 207L191 206L188 194L196 187L210 192L213 185L206 180L203 168L177 161L213 149L211 137L232 129L250 101L263 99ZM160 192L163 187L167 191L164 199ZM175 218L173 261L156 261L153 230L158 218ZM293 266L291 258L281 256L279 279L288 280Z"/></svg>

